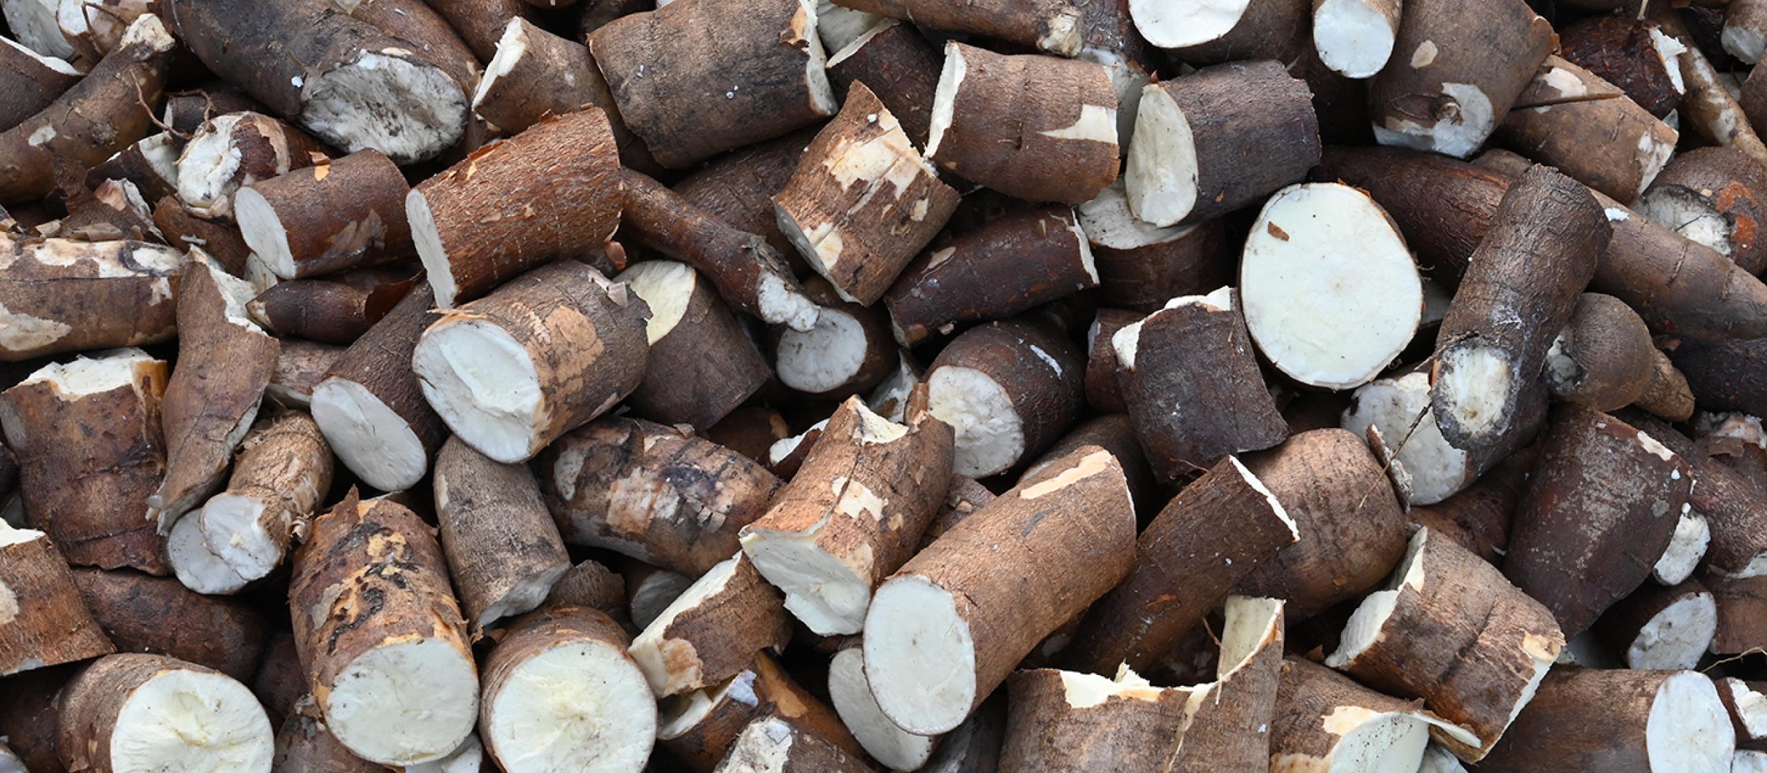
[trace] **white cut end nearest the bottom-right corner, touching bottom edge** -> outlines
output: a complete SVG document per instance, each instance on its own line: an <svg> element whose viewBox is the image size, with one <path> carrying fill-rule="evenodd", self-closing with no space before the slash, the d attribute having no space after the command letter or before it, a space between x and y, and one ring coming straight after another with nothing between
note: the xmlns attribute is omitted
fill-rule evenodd
<svg viewBox="0 0 1767 773"><path fill-rule="evenodd" d="M1652 771L1725 773L1737 736L1712 679L1682 671L1657 687L1645 722L1645 750Z"/></svg>

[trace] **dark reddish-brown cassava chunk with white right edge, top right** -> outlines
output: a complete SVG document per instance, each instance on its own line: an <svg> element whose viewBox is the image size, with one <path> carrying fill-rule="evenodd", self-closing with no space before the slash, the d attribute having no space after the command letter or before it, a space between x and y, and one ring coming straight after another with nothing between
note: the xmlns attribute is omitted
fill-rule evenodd
<svg viewBox="0 0 1767 773"><path fill-rule="evenodd" d="M1652 28L1654 21L1636 14L1590 16L1558 30L1558 55L1613 83L1650 115L1666 118L1680 104L1680 92L1650 42Z"/></svg>

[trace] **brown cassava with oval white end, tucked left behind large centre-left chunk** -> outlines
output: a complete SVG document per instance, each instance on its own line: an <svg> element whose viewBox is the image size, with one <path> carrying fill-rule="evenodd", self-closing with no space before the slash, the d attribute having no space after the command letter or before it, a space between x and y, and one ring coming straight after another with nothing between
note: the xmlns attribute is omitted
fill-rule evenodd
<svg viewBox="0 0 1767 773"><path fill-rule="evenodd" d="M424 401L410 365L433 302L429 282L412 288L337 356L311 392L313 420L325 443L355 477L380 491L417 485L429 471L429 455L447 439L447 427Z"/></svg>

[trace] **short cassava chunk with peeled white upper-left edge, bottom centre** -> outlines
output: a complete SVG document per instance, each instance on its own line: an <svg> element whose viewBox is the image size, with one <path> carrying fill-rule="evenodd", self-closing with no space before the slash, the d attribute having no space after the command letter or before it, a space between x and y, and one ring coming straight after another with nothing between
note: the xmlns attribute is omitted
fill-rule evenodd
<svg viewBox="0 0 1767 773"><path fill-rule="evenodd" d="M717 685L749 667L755 653L792 637L776 591L742 554L707 570L636 639L631 655L657 697Z"/></svg>

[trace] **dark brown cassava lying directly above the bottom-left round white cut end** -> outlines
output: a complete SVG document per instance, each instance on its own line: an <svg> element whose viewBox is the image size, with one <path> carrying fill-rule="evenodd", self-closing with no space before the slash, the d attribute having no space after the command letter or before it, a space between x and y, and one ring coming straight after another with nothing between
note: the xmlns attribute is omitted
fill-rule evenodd
<svg viewBox="0 0 1767 773"><path fill-rule="evenodd" d="M74 582L118 651L170 655L239 681L258 669L263 618L246 602L129 570L78 568Z"/></svg>

